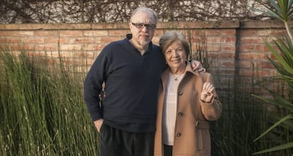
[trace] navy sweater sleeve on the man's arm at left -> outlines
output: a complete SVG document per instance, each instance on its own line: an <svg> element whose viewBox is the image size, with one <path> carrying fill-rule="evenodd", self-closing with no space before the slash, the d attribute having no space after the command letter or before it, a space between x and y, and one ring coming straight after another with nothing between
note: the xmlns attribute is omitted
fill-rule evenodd
<svg viewBox="0 0 293 156"><path fill-rule="evenodd" d="M84 101L93 121L103 119L99 94L103 89L102 85L105 81L105 73L107 73L106 70L108 68L107 51L107 48L104 48L100 52L84 80Z"/></svg>

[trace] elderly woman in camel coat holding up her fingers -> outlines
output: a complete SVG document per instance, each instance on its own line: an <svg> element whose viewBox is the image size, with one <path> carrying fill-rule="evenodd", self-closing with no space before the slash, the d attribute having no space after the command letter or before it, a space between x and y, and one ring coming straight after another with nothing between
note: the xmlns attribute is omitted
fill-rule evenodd
<svg viewBox="0 0 293 156"><path fill-rule="evenodd" d="M166 32L159 45L168 68L159 86L154 155L211 155L209 121L222 113L212 75L190 68L181 32Z"/></svg>

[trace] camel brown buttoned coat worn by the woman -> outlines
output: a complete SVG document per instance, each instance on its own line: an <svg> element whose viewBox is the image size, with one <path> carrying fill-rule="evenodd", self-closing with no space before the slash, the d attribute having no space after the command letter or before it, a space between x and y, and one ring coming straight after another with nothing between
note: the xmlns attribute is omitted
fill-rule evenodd
<svg viewBox="0 0 293 156"><path fill-rule="evenodd" d="M162 114L169 71L170 69L167 68L162 73L161 85L159 86L154 156L163 156ZM193 71L188 63L185 68L185 76L178 85L173 156L211 155L208 121L219 119L222 113L222 104L215 91L212 92L214 99L211 103L200 100L200 93L205 82L213 84L212 75Z"/></svg>

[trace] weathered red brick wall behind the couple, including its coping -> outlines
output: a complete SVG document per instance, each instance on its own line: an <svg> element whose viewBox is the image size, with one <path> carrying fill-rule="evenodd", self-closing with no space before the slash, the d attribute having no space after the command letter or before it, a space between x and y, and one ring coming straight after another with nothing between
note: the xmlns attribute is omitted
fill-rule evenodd
<svg viewBox="0 0 293 156"><path fill-rule="evenodd" d="M249 90L256 81L275 75L266 58L272 56L263 40L285 33L280 21L170 22L157 25L153 42L158 44L167 30L184 32L193 49L199 34L207 36L210 72L217 90L232 97L243 88ZM127 23L0 25L0 49L25 50L33 56L48 54L53 61L62 54L69 64L89 67L106 44L123 39L126 33L130 33Z"/></svg>

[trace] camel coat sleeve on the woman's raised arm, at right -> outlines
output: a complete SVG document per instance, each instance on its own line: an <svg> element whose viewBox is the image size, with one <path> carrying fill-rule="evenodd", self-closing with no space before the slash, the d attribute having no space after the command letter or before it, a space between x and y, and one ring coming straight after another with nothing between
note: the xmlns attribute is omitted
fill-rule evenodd
<svg viewBox="0 0 293 156"><path fill-rule="evenodd" d="M202 75L204 82L212 83L214 85L214 80L212 78L212 75L210 73L204 73ZM202 114L205 116L205 119L209 121L215 121L219 119L219 117L222 114L222 104L219 101L219 97L217 95L216 90L212 92L214 95L214 98L212 99L212 102L205 103L200 100L200 105L202 108Z"/></svg>

